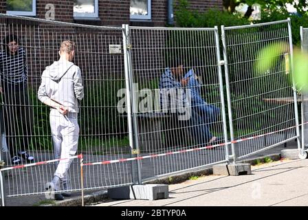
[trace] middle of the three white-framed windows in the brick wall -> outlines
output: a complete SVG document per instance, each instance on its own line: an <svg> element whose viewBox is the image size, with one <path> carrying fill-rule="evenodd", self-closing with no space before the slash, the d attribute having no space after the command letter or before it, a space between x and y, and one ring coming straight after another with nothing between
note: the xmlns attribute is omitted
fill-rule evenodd
<svg viewBox="0 0 308 220"><path fill-rule="evenodd" d="M98 0L74 0L74 17L98 17Z"/></svg>

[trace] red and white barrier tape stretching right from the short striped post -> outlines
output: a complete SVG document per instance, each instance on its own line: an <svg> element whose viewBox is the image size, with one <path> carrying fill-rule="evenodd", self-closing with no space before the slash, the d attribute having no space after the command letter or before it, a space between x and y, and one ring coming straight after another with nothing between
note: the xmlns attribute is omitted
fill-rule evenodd
<svg viewBox="0 0 308 220"><path fill-rule="evenodd" d="M308 122L305 122L305 123L300 124L298 126L302 126L304 124L308 124ZM188 149L188 150L181 150L181 151L175 151L175 152L153 154L153 155L142 156L142 157L132 157L132 158L126 158L126 159L113 159L113 160L107 160L107 161L102 161L102 162L83 164L83 166L99 165L99 164L114 164L114 163L118 163L118 162L127 162L127 161L132 161L132 160L147 159L147 158L153 158L153 157L162 157L162 156L173 155L173 154L177 154L177 153L186 153L186 152L191 152L191 151L200 151L200 150L203 150L203 149L211 149L211 148L215 148L217 146L225 146L225 145L228 145L228 144L235 144L235 143L243 142L245 140L252 140L252 139L255 139L255 138L258 138L258 137L263 137L265 135L271 135L273 133L278 133L278 132L281 132L281 131L286 131L286 130L289 130L289 129L294 129L294 128L296 128L296 126L291 126L291 127L287 128L287 129L281 129L279 131L272 131L270 133L265 133L263 135L255 135L255 136L252 136L252 137L245 137L245 138L242 138L242 139L239 139L239 140L233 140L231 142L225 142L225 143L221 143L221 144L214 144L214 145L210 145L210 146L203 146L203 147L200 147L200 148L192 148L192 149Z"/></svg>

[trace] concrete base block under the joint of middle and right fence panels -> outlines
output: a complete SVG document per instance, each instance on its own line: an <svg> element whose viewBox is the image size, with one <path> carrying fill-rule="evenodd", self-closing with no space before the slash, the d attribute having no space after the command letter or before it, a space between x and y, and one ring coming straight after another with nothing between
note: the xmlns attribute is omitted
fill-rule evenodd
<svg viewBox="0 0 308 220"><path fill-rule="evenodd" d="M252 173L250 164L218 164L213 166L214 175L249 175Z"/></svg>

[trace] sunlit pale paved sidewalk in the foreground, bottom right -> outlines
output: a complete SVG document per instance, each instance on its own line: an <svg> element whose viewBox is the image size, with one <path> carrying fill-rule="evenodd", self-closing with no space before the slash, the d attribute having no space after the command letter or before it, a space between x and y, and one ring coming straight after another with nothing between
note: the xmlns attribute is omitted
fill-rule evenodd
<svg viewBox="0 0 308 220"><path fill-rule="evenodd" d="M252 167L252 175L206 176L169 186L169 199L106 200L96 206L308 206L308 159Z"/></svg>

